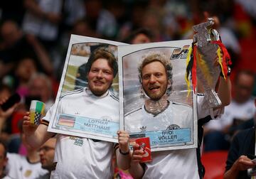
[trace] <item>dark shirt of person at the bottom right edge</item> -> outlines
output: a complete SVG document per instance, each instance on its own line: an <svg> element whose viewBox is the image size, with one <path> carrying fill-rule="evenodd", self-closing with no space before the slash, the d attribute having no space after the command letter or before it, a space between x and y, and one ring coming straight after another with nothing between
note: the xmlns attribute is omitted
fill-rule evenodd
<svg viewBox="0 0 256 179"><path fill-rule="evenodd" d="M235 135L230 150L228 152L228 159L226 161L225 170L228 171L235 161L242 155L255 155L255 128L240 131ZM238 178L250 178L247 175L247 170L242 170L238 174Z"/></svg>

